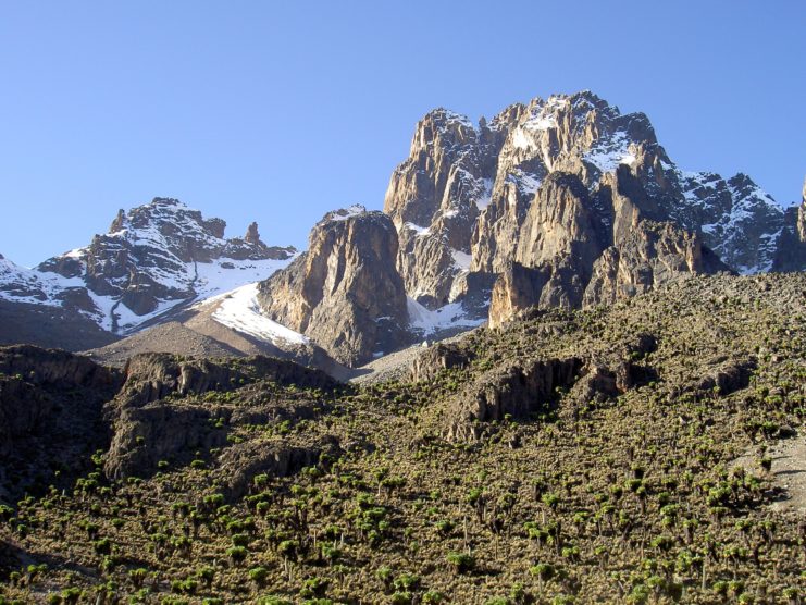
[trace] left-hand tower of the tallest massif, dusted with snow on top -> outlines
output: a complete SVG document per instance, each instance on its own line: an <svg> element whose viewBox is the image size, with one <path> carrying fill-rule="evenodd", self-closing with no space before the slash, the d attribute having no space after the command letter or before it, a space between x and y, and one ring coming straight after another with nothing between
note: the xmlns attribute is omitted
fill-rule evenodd
<svg viewBox="0 0 806 605"><path fill-rule="evenodd" d="M470 239L489 196L495 126L436 109L417 125L409 158L392 175L384 211L398 230L398 269L407 292L429 308L447 304L469 269Z"/></svg>

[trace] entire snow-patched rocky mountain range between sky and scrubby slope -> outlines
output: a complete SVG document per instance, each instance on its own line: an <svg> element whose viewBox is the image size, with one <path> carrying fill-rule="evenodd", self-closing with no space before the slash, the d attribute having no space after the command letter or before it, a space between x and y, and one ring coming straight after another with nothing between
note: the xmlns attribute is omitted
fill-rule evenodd
<svg viewBox="0 0 806 605"><path fill-rule="evenodd" d="M299 256L266 246L256 223L226 239L224 221L156 198L34 270L0 260L0 312L84 326L39 344L87 348L178 318L209 337L225 325L273 353L309 347L355 367L533 306L612 304L692 274L804 270L804 215L806 200L784 210L746 174L681 170L645 114L590 91L478 124L439 108L417 124L384 211L328 212ZM193 307L203 322L182 314L207 299Z"/></svg>

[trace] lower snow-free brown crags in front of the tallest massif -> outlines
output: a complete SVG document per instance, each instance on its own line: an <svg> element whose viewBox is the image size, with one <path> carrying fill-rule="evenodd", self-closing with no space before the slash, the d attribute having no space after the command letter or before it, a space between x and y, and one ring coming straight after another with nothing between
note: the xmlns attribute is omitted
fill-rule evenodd
<svg viewBox="0 0 806 605"><path fill-rule="evenodd" d="M613 302L687 274L729 271L698 233L647 217L662 209L627 165L603 177L593 196L574 175L548 176L494 287L491 326L531 306Z"/></svg>

